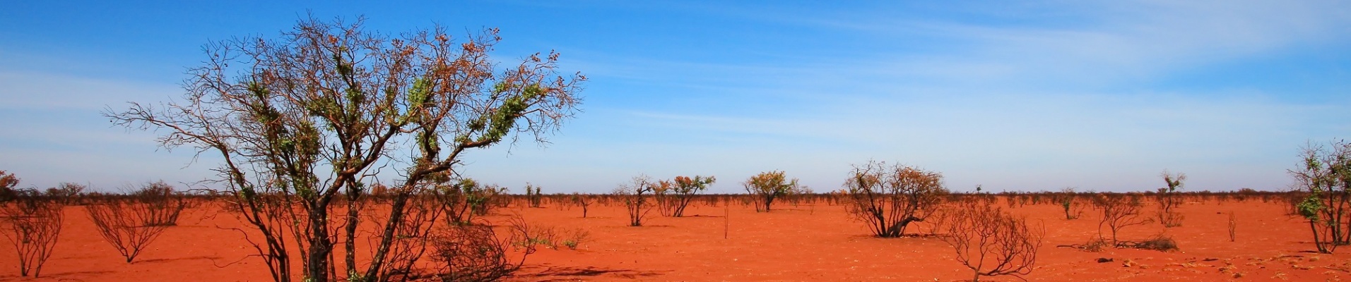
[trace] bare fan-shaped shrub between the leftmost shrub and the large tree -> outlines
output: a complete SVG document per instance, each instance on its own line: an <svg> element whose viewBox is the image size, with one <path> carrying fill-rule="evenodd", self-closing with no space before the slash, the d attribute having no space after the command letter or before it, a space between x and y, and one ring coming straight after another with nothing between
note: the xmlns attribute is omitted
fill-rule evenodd
<svg viewBox="0 0 1351 282"><path fill-rule="evenodd" d="M131 263L169 225L176 224L186 206L181 197L165 194L172 190L165 182L151 182L130 197L112 197L84 208L99 236Z"/></svg>

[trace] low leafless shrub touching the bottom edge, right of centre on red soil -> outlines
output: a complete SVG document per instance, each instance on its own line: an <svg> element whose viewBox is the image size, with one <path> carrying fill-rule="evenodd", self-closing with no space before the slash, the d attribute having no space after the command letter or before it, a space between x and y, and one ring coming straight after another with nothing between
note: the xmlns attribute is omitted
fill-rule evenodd
<svg viewBox="0 0 1351 282"><path fill-rule="evenodd" d="M947 235L940 239L957 251L957 260L981 277L1032 273L1036 251L1046 235L1029 228L1025 219L1013 217L994 205L965 202L951 216Z"/></svg>

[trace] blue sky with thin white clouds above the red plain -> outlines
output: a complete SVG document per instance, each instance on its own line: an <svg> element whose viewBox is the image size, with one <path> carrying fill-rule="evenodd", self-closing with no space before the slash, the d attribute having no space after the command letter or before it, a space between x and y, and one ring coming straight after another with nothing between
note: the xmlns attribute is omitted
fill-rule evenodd
<svg viewBox="0 0 1351 282"><path fill-rule="evenodd" d="M307 12L382 32L500 27L562 53L584 113L462 173L519 190L785 170L817 192L869 159L954 190L1285 189L1309 140L1351 138L1344 1L5 1L0 170L24 188L211 177L211 157L99 115L177 97L201 46Z"/></svg>

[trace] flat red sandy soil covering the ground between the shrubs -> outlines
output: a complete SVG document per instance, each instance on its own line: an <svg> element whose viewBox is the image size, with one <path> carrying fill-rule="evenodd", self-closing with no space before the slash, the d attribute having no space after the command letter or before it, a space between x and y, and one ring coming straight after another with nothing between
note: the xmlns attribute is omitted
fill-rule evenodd
<svg viewBox="0 0 1351 282"><path fill-rule="evenodd" d="M620 206L594 205L582 219L576 206L504 208L536 225L586 229L578 250L540 250L508 281L962 281L971 271L934 237L878 239L843 206L782 204L769 213L750 206L692 204L688 217L653 212L646 227L627 227ZM998 201L998 205L1005 205ZM1167 233L1181 251L1056 247L1097 235L1097 216L1065 220L1058 205L1012 208L1046 227L1036 269L1028 281L1342 281L1351 279L1351 255L1313 254L1308 224L1286 216L1281 204L1190 202L1182 227ZM724 212L730 210L730 215ZM266 267L228 215L209 205L184 215L149 250L127 264L103 242L81 206L66 208L66 225L42 278L20 278L9 242L0 239L0 281L270 281ZM1228 212L1238 216L1238 242L1228 240ZM1152 215L1152 208L1147 208ZM212 217L212 215L215 215ZM727 237L724 239L724 224ZM1165 228L1127 227L1123 240L1143 240ZM912 232L927 232L920 224ZM339 247L340 248L340 247ZM340 256L339 256L340 258ZM1098 263L1098 258L1113 262ZM339 266L342 269L342 266ZM1020 281L1013 277L985 281Z"/></svg>

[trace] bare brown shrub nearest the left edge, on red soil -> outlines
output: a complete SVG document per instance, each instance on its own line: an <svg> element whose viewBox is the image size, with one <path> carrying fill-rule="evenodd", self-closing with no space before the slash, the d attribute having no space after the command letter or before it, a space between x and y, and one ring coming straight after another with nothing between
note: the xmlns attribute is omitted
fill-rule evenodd
<svg viewBox="0 0 1351 282"><path fill-rule="evenodd" d="M11 202L0 204L4 236L19 252L19 275L42 275L42 264L51 258L61 236L65 219L61 209L59 201L46 198L34 189L15 190Z"/></svg>

